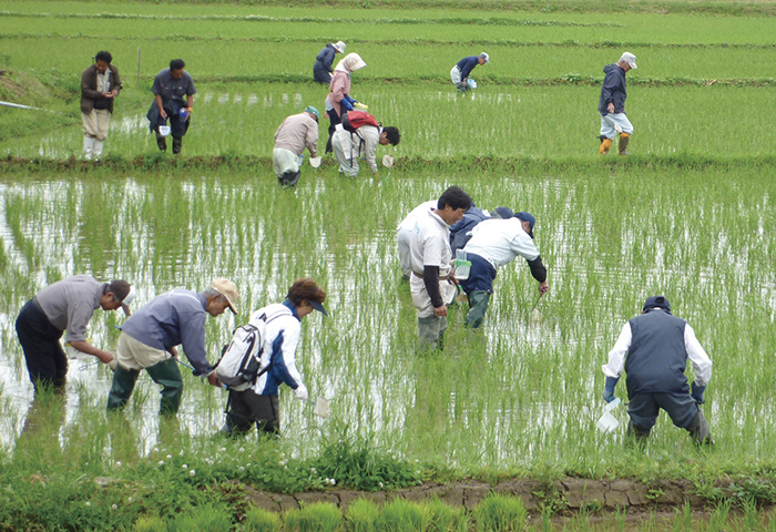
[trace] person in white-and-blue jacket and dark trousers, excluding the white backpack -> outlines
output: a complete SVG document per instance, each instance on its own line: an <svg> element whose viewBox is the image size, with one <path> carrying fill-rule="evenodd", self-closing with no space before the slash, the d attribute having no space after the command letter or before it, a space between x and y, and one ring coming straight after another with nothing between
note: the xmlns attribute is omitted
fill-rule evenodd
<svg viewBox="0 0 776 532"><path fill-rule="evenodd" d="M280 385L293 389L300 401L308 400L307 387L296 368L296 350L302 320L313 310L328 316L324 308L325 300L326 291L314 279L304 277L288 288L283 303L267 305L252 314L249 324L255 324L262 332L261 345L253 347L254 356L261 357L261 365L254 380L247 386L229 389L223 428L225 434L245 434L254 424L259 433L277 434L280 431ZM228 351L229 348L217 371L222 370Z"/></svg>

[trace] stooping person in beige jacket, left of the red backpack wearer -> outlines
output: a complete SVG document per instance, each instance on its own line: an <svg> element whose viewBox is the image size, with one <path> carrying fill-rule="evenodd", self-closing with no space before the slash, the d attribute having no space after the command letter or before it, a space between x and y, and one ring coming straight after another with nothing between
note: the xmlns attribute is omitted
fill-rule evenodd
<svg viewBox="0 0 776 532"><path fill-rule="evenodd" d="M275 132L272 162L280 185L296 186L299 182L305 147L310 157L318 156L318 110L312 106L288 116Z"/></svg>

